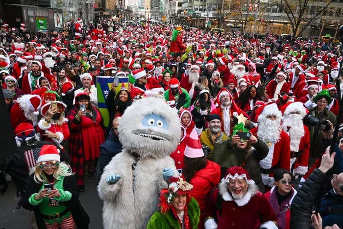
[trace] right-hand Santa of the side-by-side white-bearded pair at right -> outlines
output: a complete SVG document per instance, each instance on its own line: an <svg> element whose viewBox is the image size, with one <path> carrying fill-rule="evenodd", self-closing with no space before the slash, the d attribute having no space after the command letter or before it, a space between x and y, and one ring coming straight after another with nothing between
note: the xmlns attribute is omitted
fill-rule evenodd
<svg viewBox="0 0 343 229"><path fill-rule="evenodd" d="M310 131L303 124L306 108L301 102L291 102L281 107L283 110L283 130L290 136L291 168L293 176L304 176L308 170L310 152Z"/></svg>

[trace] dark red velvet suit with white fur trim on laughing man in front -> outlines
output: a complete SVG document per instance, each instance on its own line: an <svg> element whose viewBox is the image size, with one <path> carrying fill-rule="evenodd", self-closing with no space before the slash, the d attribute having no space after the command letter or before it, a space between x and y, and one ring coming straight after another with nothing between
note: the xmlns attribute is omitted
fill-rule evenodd
<svg viewBox="0 0 343 229"><path fill-rule="evenodd" d="M236 175L233 177L239 177L237 173ZM233 199L227 190L229 178L226 177L221 180L219 189L215 189L209 198L204 214L206 218L211 218L205 221L205 229L277 229L274 223L277 222L276 215L267 198L253 186L254 181L247 175L247 192L241 199ZM218 204L221 205L218 207Z"/></svg>

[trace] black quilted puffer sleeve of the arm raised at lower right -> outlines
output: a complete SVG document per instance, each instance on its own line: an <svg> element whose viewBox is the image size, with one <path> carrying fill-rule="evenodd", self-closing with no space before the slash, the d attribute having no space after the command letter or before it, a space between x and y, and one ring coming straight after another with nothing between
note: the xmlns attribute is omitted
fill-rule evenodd
<svg viewBox="0 0 343 229"><path fill-rule="evenodd" d="M315 169L294 197L291 208L291 229L311 229L312 207L319 198L326 175Z"/></svg>

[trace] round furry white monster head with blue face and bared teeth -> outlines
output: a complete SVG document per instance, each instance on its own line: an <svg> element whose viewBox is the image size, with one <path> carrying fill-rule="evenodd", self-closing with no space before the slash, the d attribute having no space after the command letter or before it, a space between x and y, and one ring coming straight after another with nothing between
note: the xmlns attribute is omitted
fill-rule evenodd
<svg viewBox="0 0 343 229"><path fill-rule="evenodd" d="M164 100L145 98L126 108L118 131L123 149L141 158L161 158L176 149L181 125L175 110Z"/></svg>

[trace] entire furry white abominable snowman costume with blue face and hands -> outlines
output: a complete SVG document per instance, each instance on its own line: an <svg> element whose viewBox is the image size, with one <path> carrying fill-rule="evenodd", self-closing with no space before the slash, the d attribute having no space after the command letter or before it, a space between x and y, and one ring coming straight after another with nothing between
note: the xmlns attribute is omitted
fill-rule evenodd
<svg viewBox="0 0 343 229"><path fill-rule="evenodd" d="M159 192L168 188L163 170L178 175L169 155L180 136L179 118L164 100L146 98L126 108L119 126L124 150L105 167L98 185L105 229L147 227L158 210Z"/></svg>

